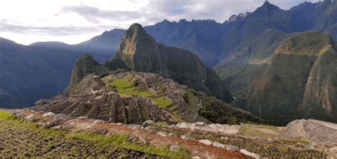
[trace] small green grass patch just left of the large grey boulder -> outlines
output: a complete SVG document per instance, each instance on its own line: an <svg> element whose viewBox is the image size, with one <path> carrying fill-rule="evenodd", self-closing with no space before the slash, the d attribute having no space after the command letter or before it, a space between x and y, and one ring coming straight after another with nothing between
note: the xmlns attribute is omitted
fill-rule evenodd
<svg viewBox="0 0 337 159"><path fill-rule="evenodd" d="M240 133L244 136L262 136L262 137L274 137L275 135L270 133L264 133L254 128L265 128L269 131L274 131L275 133L281 133L281 131L275 126L267 125L253 125L253 124L242 124L240 128Z"/></svg>

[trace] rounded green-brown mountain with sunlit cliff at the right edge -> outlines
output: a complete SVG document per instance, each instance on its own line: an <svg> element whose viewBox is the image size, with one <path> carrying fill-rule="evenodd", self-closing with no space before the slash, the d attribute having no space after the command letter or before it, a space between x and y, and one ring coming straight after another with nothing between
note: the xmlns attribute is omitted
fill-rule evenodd
<svg viewBox="0 0 337 159"><path fill-rule="evenodd" d="M326 33L309 31L287 38L250 89L245 109L264 119L337 121L336 50Z"/></svg>

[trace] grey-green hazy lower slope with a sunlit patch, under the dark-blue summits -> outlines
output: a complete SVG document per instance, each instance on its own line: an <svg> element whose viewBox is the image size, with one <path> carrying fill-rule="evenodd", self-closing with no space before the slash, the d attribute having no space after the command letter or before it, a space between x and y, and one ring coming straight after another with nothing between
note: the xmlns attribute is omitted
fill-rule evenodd
<svg viewBox="0 0 337 159"><path fill-rule="evenodd" d="M214 70L235 97L244 98L250 85L267 70L274 50L288 36L282 31L268 29L255 38L242 41Z"/></svg>

